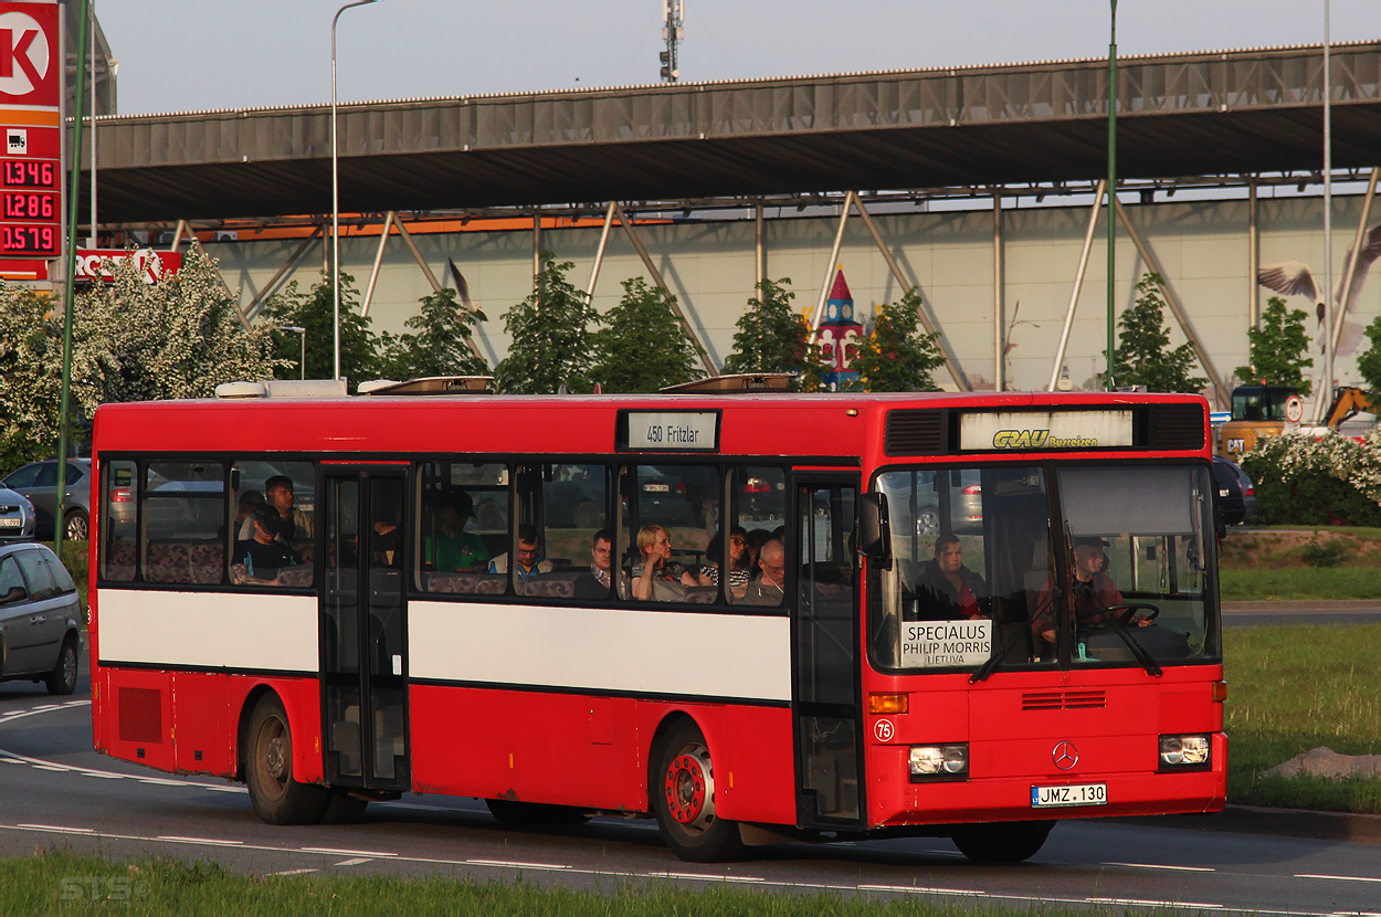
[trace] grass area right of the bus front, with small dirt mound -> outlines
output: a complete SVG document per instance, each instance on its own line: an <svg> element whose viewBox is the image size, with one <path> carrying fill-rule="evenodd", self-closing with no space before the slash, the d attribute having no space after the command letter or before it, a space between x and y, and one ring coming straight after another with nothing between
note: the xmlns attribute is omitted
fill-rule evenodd
<svg viewBox="0 0 1381 917"><path fill-rule="evenodd" d="M1381 754L1381 624L1235 628L1224 642L1228 801L1381 813L1381 779L1259 776L1319 746Z"/></svg>

